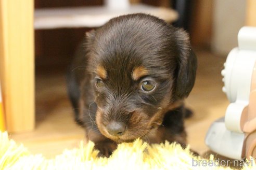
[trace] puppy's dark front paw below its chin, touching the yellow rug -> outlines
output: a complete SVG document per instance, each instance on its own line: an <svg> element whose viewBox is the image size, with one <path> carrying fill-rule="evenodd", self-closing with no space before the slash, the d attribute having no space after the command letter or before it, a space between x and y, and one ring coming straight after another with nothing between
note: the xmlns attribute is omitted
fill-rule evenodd
<svg viewBox="0 0 256 170"><path fill-rule="evenodd" d="M110 157L112 152L117 149L117 144L113 141L103 141L96 143L94 146L95 149L99 150L98 157Z"/></svg>

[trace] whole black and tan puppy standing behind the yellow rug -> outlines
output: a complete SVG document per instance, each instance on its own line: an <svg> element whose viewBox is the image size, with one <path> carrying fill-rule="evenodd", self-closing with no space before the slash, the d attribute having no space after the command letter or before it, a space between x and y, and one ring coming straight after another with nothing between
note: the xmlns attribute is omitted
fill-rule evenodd
<svg viewBox="0 0 256 170"><path fill-rule="evenodd" d="M186 145L183 100L196 68L183 30L142 13L111 19L86 34L68 74L76 121L107 156L138 137Z"/></svg>

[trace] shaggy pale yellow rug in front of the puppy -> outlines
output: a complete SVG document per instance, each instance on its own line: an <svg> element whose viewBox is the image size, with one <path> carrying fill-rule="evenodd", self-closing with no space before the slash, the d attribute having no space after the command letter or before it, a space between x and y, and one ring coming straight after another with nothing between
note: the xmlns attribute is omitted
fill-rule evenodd
<svg viewBox="0 0 256 170"><path fill-rule="evenodd" d="M168 142L149 146L137 139L133 143L122 143L110 158L97 157L98 151L93 147L91 141L86 145L81 142L80 148L65 150L54 159L45 159L17 145L6 132L0 132L0 169L224 169L213 163L213 156L210 160L193 157L189 148L182 149ZM243 168L256 169L253 163Z"/></svg>

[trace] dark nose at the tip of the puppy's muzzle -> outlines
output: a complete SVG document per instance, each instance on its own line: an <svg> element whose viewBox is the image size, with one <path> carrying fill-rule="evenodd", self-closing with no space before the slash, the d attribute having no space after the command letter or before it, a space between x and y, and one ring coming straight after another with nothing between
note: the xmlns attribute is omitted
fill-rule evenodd
<svg viewBox="0 0 256 170"><path fill-rule="evenodd" d="M110 135L122 136L125 131L125 125L122 122L112 121L107 124L106 129Z"/></svg>

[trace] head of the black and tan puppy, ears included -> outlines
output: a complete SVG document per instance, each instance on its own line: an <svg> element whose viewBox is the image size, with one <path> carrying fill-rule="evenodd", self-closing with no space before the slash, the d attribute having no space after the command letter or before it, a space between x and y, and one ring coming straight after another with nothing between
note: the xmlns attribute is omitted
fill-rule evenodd
<svg viewBox="0 0 256 170"><path fill-rule="evenodd" d="M145 136L194 86L189 38L163 20L126 15L86 35L96 123L112 140Z"/></svg>

